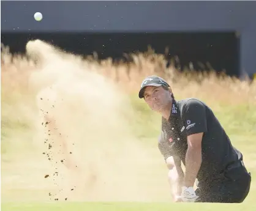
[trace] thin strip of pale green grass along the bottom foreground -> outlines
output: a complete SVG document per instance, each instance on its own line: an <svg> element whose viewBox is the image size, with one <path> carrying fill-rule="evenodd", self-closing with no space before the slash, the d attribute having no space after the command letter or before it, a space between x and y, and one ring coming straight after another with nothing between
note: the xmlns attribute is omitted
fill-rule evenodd
<svg viewBox="0 0 256 211"><path fill-rule="evenodd" d="M202 210L202 211L249 211L255 210L256 204L189 204L189 203L150 203L150 202L50 202L15 204L4 203L2 211L164 211L164 210Z"/></svg>

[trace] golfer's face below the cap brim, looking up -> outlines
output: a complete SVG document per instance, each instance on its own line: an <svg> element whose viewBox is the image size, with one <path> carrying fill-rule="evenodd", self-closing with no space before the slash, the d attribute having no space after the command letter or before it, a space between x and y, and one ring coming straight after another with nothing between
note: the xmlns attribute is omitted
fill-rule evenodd
<svg viewBox="0 0 256 211"><path fill-rule="evenodd" d="M171 100L171 92L162 86L147 86L144 92L146 103L153 111L161 112Z"/></svg>

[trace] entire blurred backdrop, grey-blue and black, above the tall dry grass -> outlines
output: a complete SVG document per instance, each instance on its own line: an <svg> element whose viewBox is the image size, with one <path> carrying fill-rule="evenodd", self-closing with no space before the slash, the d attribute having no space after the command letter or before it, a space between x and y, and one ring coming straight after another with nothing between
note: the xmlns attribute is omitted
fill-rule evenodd
<svg viewBox="0 0 256 211"><path fill-rule="evenodd" d="M253 1L2 1L1 42L24 51L29 39L67 51L118 58L169 46L181 64L209 62L217 71L256 72ZM42 12L37 22L33 15ZM13 16L15 13L15 16Z"/></svg>

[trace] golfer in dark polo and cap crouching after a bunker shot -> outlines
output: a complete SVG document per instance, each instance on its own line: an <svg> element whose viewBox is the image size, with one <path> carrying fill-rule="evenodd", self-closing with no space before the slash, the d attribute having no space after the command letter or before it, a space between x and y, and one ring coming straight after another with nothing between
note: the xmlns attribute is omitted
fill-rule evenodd
<svg viewBox="0 0 256 211"><path fill-rule="evenodd" d="M139 97L162 115L158 147L170 169L174 200L243 202L250 189L250 173L211 108L196 98L176 101L171 87L158 76L143 80Z"/></svg>

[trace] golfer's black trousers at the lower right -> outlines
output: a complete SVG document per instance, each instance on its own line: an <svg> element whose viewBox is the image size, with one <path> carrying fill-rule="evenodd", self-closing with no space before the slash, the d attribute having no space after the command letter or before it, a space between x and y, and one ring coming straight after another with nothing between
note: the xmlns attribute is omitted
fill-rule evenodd
<svg viewBox="0 0 256 211"><path fill-rule="evenodd" d="M224 179L197 188L197 202L241 203L250 191L251 176L244 166L225 172Z"/></svg>

